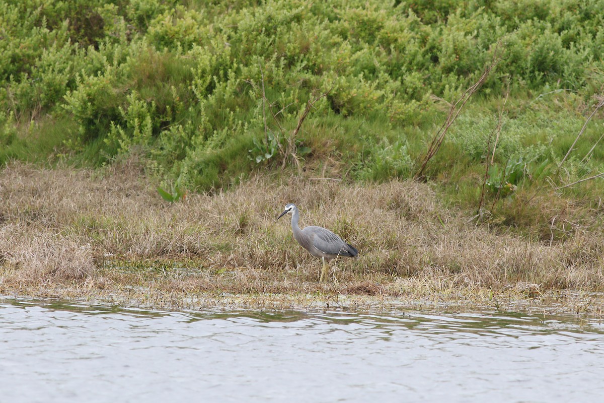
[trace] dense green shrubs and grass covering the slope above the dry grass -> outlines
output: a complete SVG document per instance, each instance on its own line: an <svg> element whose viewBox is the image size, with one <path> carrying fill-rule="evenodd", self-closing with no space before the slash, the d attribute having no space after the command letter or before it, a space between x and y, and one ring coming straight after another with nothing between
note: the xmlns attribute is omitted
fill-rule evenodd
<svg viewBox="0 0 604 403"><path fill-rule="evenodd" d="M305 169L408 178L446 103L501 40L501 62L428 171L467 203L508 80L499 171L520 158L519 178L532 178L561 161L602 94L602 10L602 0L0 0L0 162L99 166L137 152L158 178L219 189L280 167L277 134L330 90L297 138ZM601 117L567 179L602 169L602 146L581 161Z"/></svg>

